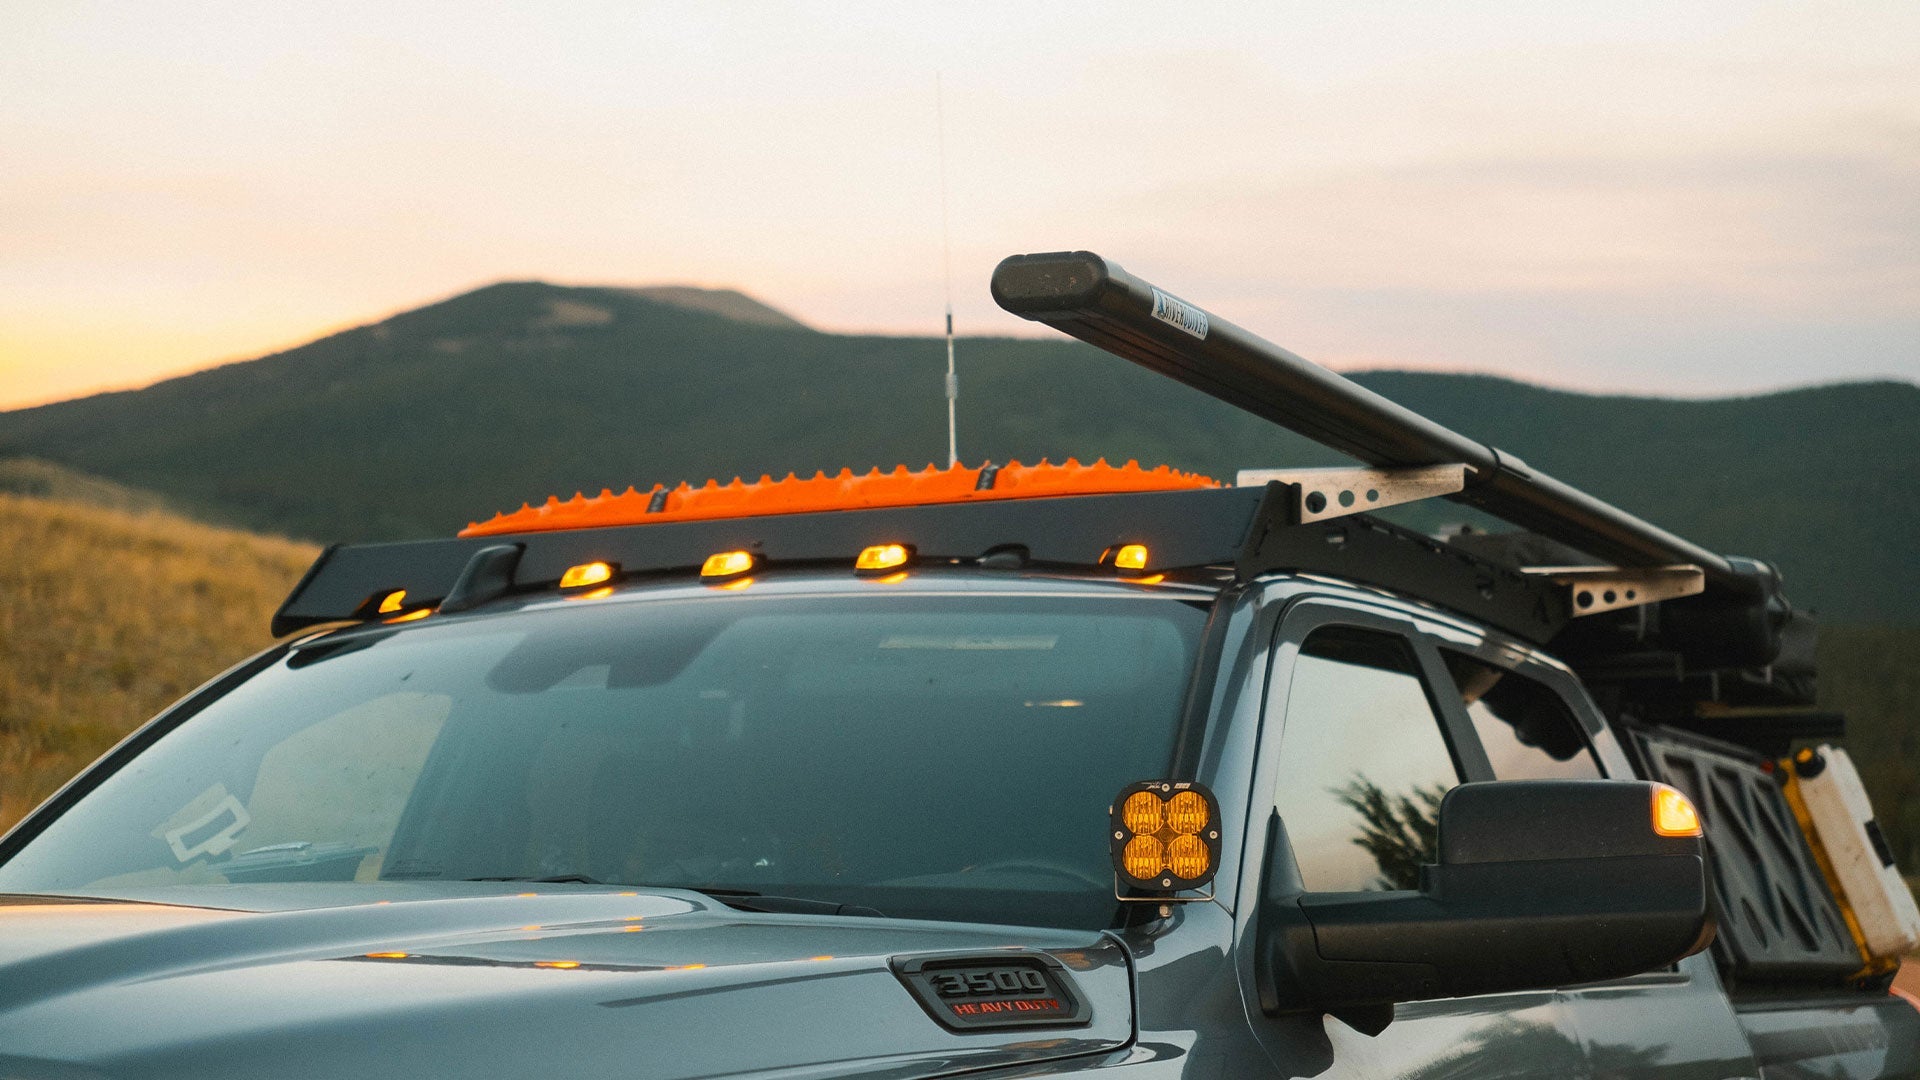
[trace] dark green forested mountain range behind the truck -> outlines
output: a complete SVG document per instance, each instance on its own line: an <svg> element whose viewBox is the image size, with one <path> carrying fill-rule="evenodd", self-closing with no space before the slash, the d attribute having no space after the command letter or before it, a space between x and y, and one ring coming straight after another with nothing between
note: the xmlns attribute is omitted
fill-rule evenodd
<svg viewBox="0 0 1920 1080"><path fill-rule="evenodd" d="M968 461L1108 457L1231 479L1340 459L1060 340L960 342ZM547 494L945 459L939 338L828 334L737 292L503 282L144 390L0 413L31 455L207 519L323 540L449 534ZM1789 596L1920 623L1920 386L1588 396L1476 375L1361 384L1709 548ZM1423 525L1465 519L1421 507Z"/></svg>

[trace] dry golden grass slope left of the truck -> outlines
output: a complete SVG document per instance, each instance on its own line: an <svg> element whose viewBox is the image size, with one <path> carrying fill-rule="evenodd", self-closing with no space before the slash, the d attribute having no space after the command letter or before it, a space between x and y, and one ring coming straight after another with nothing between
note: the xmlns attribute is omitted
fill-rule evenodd
<svg viewBox="0 0 1920 1080"><path fill-rule="evenodd" d="M0 494L0 832L265 648L317 553L157 509Z"/></svg>

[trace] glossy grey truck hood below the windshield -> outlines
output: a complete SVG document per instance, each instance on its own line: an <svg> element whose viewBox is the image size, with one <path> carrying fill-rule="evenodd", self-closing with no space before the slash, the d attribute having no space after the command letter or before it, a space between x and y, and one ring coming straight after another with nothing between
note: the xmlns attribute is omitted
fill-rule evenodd
<svg viewBox="0 0 1920 1080"><path fill-rule="evenodd" d="M933 1076L1133 1038L1125 951L1096 932L526 888L0 897L0 1076ZM1091 1019L950 1032L891 967L1008 949L1062 961Z"/></svg>

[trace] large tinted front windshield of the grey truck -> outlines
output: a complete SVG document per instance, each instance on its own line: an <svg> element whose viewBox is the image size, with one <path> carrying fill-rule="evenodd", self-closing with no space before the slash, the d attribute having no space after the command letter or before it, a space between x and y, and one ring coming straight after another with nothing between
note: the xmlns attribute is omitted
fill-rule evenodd
<svg viewBox="0 0 1920 1080"><path fill-rule="evenodd" d="M1106 809L1167 769L1204 621L726 596L353 630L159 738L0 892L545 878L1106 926Z"/></svg>

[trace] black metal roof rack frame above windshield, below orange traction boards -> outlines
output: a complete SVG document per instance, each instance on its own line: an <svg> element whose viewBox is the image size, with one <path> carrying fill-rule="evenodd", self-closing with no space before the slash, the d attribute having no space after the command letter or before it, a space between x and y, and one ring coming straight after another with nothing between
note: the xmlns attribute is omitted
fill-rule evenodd
<svg viewBox="0 0 1920 1080"><path fill-rule="evenodd" d="M488 596L503 596L553 588L566 567L591 561L628 575L691 573L714 552L743 550L774 565L839 563L851 575L870 544L906 544L920 565L1018 546L1027 565L1083 569L1112 546L1146 544L1156 571L1231 567L1238 580L1321 573L1423 596L1530 642L1549 640L1571 615L1565 590L1511 567L1363 515L1296 525L1296 505L1294 486L1267 484L334 546L275 613L273 632L367 619L369 601L397 588L407 607L455 598L442 609L465 609L478 575L492 578Z"/></svg>

